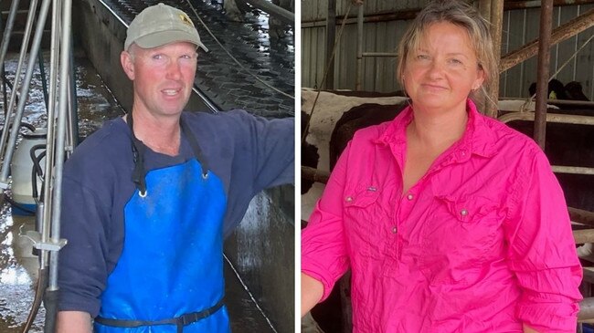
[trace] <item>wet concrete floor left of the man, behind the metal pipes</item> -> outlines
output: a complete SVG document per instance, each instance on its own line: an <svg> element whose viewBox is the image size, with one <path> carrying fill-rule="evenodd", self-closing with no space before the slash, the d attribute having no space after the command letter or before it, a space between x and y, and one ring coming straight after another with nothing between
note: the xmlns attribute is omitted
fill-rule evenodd
<svg viewBox="0 0 594 333"><path fill-rule="evenodd" d="M44 52L43 56L45 67L48 68L49 55ZM5 72L10 82L14 82L17 61L17 54L9 53L6 56ZM99 129L103 121L121 116L123 110L84 54L78 52L75 63L79 130L80 136L86 137ZM5 109L4 102L0 102L3 104L2 109ZM4 115L0 115L0 120L4 123ZM44 128L48 121L38 68L31 80L23 121L37 128ZM0 212L0 332L20 333L33 304L38 260L32 254L31 243L19 234L33 230L35 218L13 215L7 204L1 207ZM45 310L41 307L29 332L43 332L44 318Z"/></svg>

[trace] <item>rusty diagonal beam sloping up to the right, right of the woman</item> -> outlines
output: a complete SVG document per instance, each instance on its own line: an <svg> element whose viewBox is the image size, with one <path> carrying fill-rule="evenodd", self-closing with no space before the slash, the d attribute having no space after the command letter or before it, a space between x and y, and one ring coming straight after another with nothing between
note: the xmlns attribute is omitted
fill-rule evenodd
<svg viewBox="0 0 594 333"><path fill-rule="evenodd" d="M556 45L571 36L578 35L578 33L594 26L594 8L588 12L568 21L566 24L557 26L551 34L551 46ZM538 39L527 43L524 47L506 54L502 57L500 71L504 72L509 68L521 63L525 59L534 57L538 51ZM548 81L548 78L546 78Z"/></svg>

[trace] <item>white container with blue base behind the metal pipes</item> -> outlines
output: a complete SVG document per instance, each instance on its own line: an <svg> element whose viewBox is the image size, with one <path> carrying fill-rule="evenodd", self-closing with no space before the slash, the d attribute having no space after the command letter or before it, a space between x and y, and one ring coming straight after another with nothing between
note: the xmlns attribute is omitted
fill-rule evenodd
<svg viewBox="0 0 594 333"><path fill-rule="evenodd" d="M33 199L33 187L31 175L33 172L33 160L31 160L30 151L31 148L37 144L46 144L48 137L47 129L37 129L35 131L27 131L23 135L23 140L16 147L15 155L13 155L13 161L10 164L10 171L12 174L12 197L13 201L18 203L19 206L26 208L29 211L35 212L37 204ZM38 156L43 150L36 151ZM42 170L46 158L41 159L40 165ZM41 193L41 179L37 176L37 193ZM18 207L13 207L14 214L27 214Z"/></svg>

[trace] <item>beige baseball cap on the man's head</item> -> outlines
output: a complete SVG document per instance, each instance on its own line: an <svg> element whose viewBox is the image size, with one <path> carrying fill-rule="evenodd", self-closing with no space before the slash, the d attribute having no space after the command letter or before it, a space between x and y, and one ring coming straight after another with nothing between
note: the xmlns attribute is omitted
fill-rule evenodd
<svg viewBox="0 0 594 333"><path fill-rule="evenodd" d="M123 48L128 50L133 43L153 48L175 42L189 42L208 51L186 13L170 5L159 4L144 8L134 17Z"/></svg>

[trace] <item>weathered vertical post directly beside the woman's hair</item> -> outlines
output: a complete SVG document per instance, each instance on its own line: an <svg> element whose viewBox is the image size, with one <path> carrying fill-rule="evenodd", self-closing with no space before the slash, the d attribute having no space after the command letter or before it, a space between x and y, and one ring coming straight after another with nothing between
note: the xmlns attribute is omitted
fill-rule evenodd
<svg viewBox="0 0 594 333"><path fill-rule="evenodd" d="M492 1L491 2L491 26L492 26L492 37L493 37L493 53L497 58L497 69L492 74L492 84L488 87L488 95L493 103L489 100L485 103L484 112L487 116L496 118L497 117L497 100L499 99L499 62L501 60L501 39L502 39L502 28L504 25L504 2L503 1Z"/></svg>

